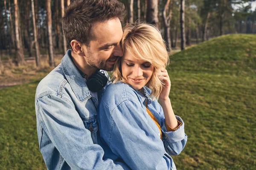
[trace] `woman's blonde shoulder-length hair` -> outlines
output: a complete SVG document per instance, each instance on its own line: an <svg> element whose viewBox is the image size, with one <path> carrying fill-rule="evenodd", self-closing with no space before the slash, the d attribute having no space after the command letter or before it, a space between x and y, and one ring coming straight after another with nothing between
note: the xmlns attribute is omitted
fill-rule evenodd
<svg viewBox="0 0 256 170"><path fill-rule="evenodd" d="M161 69L169 65L169 56L166 51L166 44L160 31L153 26L145 23L127 24L123 28L121 47L124 55L129 52L136 59L143 59L154 66L151 79L145 85L151 89L150 97L158 99L164 83L159 79ZM122 78L121 59L119 57L112 71L113 83L117 81L125 82Z"/></svg>

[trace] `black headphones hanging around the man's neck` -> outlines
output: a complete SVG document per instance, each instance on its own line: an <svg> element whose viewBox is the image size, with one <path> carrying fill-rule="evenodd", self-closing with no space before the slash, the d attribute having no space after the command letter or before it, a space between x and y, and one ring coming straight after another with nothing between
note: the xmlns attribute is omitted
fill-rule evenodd
<svg viewBox="0 0 256 170"><path fill-rule="evenodd" d="M90 78L87 79L86 85L90 91L99 92L108 82L104 71L97 69Z"/></svg>

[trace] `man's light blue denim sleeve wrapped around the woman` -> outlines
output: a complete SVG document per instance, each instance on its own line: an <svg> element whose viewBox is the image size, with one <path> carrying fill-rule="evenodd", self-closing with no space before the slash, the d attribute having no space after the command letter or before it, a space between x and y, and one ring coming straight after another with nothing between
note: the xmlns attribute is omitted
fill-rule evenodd
<svg viewBox="0 0 256 170"><path fill-rule="evenodd" d="M124 163L102 159L102 147L93 144L90 131L68 99L48 94L37 99L36 109L38 121L71 169L129 169Z"/></svg>

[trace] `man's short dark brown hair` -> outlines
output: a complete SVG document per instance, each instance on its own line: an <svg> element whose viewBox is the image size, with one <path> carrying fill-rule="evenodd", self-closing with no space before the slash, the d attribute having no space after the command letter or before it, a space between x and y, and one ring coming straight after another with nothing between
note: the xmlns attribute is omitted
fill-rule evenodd
<svg viewBox="0 0 256 170"><path fill-rule="evenodd" d="M93 23L116 17L120 21L125 17L125 6L119 0L74 0L62 17L62 29L69 44L78 40L88 45Z"/></svg>

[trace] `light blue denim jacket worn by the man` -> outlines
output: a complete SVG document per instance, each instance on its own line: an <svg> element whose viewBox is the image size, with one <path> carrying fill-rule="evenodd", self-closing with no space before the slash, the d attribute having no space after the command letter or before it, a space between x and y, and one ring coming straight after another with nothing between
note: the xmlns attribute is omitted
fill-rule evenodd
<svg viewBox="0 0 256 170"><path fill-rule="evenodd" d="M68 50L61 64L41 80L35 95L39 148L47 169L128 169L121 162L103 160L104 151L97 144L96 100Z"/></svg>

